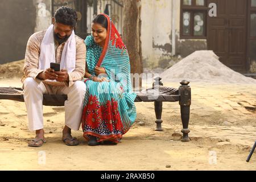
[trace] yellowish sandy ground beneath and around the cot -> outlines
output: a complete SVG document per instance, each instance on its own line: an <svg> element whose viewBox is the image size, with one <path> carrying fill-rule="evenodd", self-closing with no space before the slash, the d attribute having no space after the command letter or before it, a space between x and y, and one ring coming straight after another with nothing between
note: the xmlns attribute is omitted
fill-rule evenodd
<svg viewBox="0 0 256 182"><path fill-rule="evenodd" d="M0 86L21 84L13 78L0 80ZM73 132L80 145L65 146L64 107L44 106L47 143L30 148L34 133L27 129L24 102L0 100L0 170L255 170L256 154L250 163L246 158L256 140L256 85L191 83L191 88L191 142L185 143L177 102L163 104L162 132L155 131L154 103L137 102L137 121L122 142L94 147L81 129Z"/></svg>

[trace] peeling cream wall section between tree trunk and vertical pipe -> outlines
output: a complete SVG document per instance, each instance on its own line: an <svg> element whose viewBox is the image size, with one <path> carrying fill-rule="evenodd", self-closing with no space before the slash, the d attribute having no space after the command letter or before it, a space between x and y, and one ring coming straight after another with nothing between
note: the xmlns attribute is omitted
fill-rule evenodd
<svg viewBox="0 0 256 182"><path fill-rule="evenodd" d="M146 67L156 67L159 57L170 54L171 3L142 0L142 56Z"/></svg>

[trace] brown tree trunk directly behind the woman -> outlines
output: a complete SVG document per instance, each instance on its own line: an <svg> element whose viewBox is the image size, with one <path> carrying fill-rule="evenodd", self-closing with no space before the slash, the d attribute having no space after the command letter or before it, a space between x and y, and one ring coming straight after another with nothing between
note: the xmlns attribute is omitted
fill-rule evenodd
<svg viewBox="0 0 256 182"><path fill-rule="evenodd" d="M143 73L141 47L141 0L125 0L123 18L123 42L125 43L131 64L131 73ZM141 87L141 78L139 86ZM135 87L135 81L133 86ZM137 83L138 84L138 83ZM137 85L136 84L136 85Z"/></svg>

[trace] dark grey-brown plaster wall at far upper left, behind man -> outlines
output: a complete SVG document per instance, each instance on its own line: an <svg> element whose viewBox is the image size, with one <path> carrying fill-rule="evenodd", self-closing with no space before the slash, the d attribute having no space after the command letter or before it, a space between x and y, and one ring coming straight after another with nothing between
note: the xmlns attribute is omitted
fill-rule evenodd
<svg viewBox="0 0 256 182"><path fill-rule="evenodd" d="M36 8L31 0L0 1L0 64L24 59L35 19Z"/></svg>

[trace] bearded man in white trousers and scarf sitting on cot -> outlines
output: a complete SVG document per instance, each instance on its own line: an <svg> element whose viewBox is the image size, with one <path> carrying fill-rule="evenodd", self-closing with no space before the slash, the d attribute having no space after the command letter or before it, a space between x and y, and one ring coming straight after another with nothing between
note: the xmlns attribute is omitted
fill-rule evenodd
<svg viewBox="0 0 256 182"><path fill-rule="evenodd" d="M84 40L76 36L76 11L60 7L52 18L53 24L44 31L33 34L27 43L24 77L24 100L27 107L28 128L36 137L28 143L40 147L46 142L43 129L43 94L67 94L65 101L65 127L63 141L68 146L79 144L71 135L79 130L86 86L86 47ZM60 71L50 68L50 63L59 63Z"/></svg>

